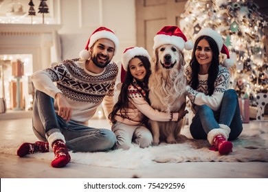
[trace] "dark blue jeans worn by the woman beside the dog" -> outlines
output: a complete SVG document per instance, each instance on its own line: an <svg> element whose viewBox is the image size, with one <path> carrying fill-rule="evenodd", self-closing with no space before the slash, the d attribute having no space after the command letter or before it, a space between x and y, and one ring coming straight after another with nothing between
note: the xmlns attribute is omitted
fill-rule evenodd
<svg viewBox="0 0 268 192"><path fill-rule="evenodd" d="M234 89L225 91L219 110L214 111L207 105L197 108L190 125L190 133L194 139L207 139L208 132L220 128L219 124L227 125L231 129L228 140L236 139L241 134L243 130L241 113Z"/></svg>

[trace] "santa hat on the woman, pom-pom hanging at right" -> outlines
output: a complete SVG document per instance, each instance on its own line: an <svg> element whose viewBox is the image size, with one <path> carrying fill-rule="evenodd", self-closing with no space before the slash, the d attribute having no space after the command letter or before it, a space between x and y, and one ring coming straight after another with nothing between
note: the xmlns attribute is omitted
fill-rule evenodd
<svg viewBox="0 0 268 192"><path fill-rule="evenodd" d="M197 36L195 37L195 40L197 40L197 38L199 38L201 36L211 37L216 42L216 45L218 46L219 52L223 53L227 56L227 59L225 59L223 62L225 67L230 68L234 65L234 60L230 59L229 51L228 51L227 47L223 44L223 38L221 37L221 35L218 32L214 31L211 28L203 28L197 34Z"/></svg>

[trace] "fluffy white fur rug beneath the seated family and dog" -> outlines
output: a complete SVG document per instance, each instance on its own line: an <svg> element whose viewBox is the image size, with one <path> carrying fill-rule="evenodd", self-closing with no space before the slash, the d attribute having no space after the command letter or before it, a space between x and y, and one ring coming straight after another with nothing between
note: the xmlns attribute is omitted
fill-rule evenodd
<svg viewBox="0 0 268 192"><path fill-rule="evenodd" d="M113 167L120 169L143 169L154 163L182 163L182 162L268 162L268 141L265 132L255 130L243 132L234 144L231 154L220 156L218 152L208 149L210 144L205 140L188 139L181 136L180 143L168 145L161 143L159 146L141 149L133 145L129 150L114 150L110 152L82 153L70 152L71 163L93 165L98 167ZM19 143L1 143L0 153L16 155ZM54 154L38 153L27 156L28 158L38 158L52 160ZM26 157L26 158L27 158Z"/></svg>

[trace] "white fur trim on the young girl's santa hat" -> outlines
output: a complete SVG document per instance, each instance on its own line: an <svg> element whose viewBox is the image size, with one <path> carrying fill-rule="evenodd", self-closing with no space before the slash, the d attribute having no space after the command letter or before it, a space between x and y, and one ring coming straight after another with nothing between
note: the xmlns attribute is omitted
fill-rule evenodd
<svg viewBox="0 0 268 192"><path fill-rule="evenodd" d="M135 56L144 56L150 60L150 55L144 47L130 47L126 49L122 55L122 66L124 71L128 70L129 62Z"/></svg>

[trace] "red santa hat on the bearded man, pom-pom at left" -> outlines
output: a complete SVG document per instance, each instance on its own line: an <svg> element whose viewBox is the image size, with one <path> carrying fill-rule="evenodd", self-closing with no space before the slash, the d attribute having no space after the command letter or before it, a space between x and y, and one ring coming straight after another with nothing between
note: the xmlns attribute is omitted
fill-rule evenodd
<svg viewBox="0 0 268 192"><path fill-rule="evenodd" d="M100 38L108 38L109 40L113 41L115 44L115 51L118 49L119 40L118 37L115 36L115 33L106 27L98 27L98 29L96 29L89 37L85 49L79 53L79 56L82 60L89 59L89 48L92 47L92 45L94 45L94 43L96 43L96 41Z"/></svg>

